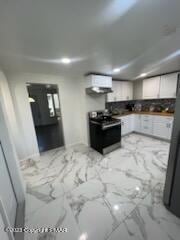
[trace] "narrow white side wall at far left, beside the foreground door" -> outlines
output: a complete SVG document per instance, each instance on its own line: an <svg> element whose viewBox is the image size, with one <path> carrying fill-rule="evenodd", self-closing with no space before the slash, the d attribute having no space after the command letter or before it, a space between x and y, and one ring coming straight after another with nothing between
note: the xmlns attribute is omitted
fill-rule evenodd
<svg viewBox="0 0 180 240"><path fill-rule="evenodd" d="M5 75L0 72L0 141L6 156L17 200L22 203L25 199L25 185L20 172L16 146L14 145L15 136L13 137L13 135L15 132L18 131L11 94Z"/></svg>

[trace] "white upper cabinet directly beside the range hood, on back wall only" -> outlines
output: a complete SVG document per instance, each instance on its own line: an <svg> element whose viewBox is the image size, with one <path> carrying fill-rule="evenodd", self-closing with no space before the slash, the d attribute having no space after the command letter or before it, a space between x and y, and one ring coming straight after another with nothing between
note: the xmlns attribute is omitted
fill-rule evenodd
<svg viewBox="0 0 180 240"><path fill-rule="evenodd" d="M107 94L107 102L118 102L133 99L133 84L126 81L113 81L112 93Z"/></svg>

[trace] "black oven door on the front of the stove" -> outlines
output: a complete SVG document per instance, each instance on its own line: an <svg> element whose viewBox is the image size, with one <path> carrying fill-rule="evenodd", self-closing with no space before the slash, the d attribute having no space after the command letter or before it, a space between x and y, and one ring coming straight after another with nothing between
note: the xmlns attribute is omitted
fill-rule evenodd
<svg viewBox="0 0 180 240"><path fill-rule="evenodd" d="M121 141L121 124L113 124L102 129L102 147L106 148Z"/></svg>

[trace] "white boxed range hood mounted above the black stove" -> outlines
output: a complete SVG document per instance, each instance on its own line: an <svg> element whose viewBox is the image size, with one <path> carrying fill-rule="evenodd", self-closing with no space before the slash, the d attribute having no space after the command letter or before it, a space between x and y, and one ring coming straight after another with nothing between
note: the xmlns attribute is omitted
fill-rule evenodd
<svg viewBox="0 0 180 240"><path fill-rule="evenodd" d="M87 94L106 94L112 92L112 77L90 74L86 76Z"/></svg>

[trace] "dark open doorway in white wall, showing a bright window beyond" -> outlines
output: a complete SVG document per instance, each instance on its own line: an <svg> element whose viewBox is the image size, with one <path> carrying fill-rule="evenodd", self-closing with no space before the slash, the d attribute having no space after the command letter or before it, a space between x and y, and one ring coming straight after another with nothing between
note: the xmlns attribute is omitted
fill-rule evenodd
<svg viewBox="0 0 180 240"><path fill-rule="evenodd" d="M58 86L27 84L40 152L64 146Z"/></svg>

